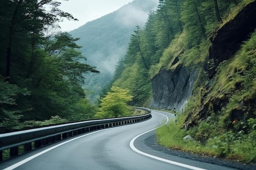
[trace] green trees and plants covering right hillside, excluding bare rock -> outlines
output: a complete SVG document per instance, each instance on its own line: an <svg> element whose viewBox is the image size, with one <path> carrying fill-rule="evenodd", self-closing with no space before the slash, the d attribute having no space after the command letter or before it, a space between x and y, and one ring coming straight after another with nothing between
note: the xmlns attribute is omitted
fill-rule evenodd
<svg viewBox="0 0 256 170"><path fill-rule="evenodd" d="M209 38L249 2L252 1L159 1L144 29L135 29L112 83L112 86L130 90L134 96L132 105L146 104L148 100L140 101L151 97L148 80L159 71L174 70L180 65L199 70L181 123L177 126L171 123L157 130L160 144L255 161L255 153L243 154L240 148L255 150L252 141L255 129L247 127L255 128L256 34L249 35L250 39L231 60L218 66L214 79L209 81L207 77ZM209 67L211 63L213 61L209 61ZM191 135L195 141L184 141L185 135Z"/></svg>

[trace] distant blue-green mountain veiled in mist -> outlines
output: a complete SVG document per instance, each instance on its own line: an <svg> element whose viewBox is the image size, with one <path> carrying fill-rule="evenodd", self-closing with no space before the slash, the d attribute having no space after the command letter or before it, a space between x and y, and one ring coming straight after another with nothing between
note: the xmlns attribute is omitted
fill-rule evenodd
<svg viewBox="0 0 256 170"><path fill-rule="evenodd" d="M157 8L158 0L134 0L117 11L87 22L70 32L79 37L80 51L86 63L97 66L100 74L85 74L83 88L92 103L99 98L102 88L110 82L115 65L126 53L130 35L135 26L144 26L150 10Z"/></svg>

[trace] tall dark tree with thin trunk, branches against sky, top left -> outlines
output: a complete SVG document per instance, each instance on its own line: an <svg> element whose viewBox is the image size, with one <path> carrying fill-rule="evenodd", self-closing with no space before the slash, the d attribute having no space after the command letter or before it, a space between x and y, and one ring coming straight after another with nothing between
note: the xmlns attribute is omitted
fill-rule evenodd
<svg viewBox="0 0 256 170"><path fill-rule="evenodd" d="M8 9L3 12L6 18L0 18L1 27L4 27L6 31L3 40L7 44L5 46L7 53L5 77L7 80L11 75L12 49L18 47L18 42L25 42L16 41L17 38L34 39L34 35L42 33L46 25L53 25L61 18L77 20L69 13L58 9L60 4L56 0L4 0L0 3L1 9ZM45 5L49 5L51 10L46 11ZM31 42L32 48L34 48L35 41L32 40Z"/></svg>

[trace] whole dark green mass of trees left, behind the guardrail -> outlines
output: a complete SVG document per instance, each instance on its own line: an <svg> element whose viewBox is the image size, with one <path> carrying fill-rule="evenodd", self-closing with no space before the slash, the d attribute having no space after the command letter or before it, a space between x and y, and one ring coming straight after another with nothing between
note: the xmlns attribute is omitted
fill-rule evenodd
<svg viewBox="0 0 256 170"><path fill-rule="evenodd" d="M83 74L99 71L86 64L86 58L77 51L81 48L76 44L79 38L68 33L49 34L49 29L54 29L62 18L76 20L58 9L60 4L56 0L0 2L3 131L22 128L25 121L52 120L54 115L73 121L92 118L95 113L81 84Z"/></svg>

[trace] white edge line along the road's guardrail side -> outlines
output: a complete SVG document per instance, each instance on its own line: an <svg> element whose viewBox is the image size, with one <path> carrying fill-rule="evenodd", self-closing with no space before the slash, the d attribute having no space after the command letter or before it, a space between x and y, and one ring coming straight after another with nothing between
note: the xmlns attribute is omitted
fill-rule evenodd
<svg viewBox="0 0 256 170"><path fill-rule="evenodd" d="M152 115L151 119L153 119L153 115ZM147 120L147 121L150 121L151 119L149 119L149 120ZM43 155L44 153L46 153L46 152L48 152L48 151L50 151L50 150L53 150L54 148L57 148L57 147L59 147L59 146L61 146L61 145L64 145L64 144L67 144L68 142L74 141L74 140L79 139L79 138L81 138L81 137L85 137L85 136L91 135L91 134L93 134L93 133L101 132L101 131L103 131L103 130L110 130L110 129L121 128L121 127L125 127L125 126L132 126L132 125L137 125L137 124L141 124L141 123L144 123L144 122L146 122L146 121L139 122L139 123L135 123L135 124L127 124L127 125L123 125L123 126L117 126L117 127L112 127L112 128L97 130L97 131L95 131L95 132L91 132L91 133L88 133L88 134L86 134L86 135L82 135L82 136L76 137L76 138L74 138L74 139L70 139L70 140L65 141L65 142L63 142L63 143L61 143L61 144L58 144L58 145L55 145L55 146L53 146L53 147L51 147L51 148L48 148L48 149L46 149L46 150L43 150L42 152L39 152L39 153L37 153L37 154L35 154L35 155L32 155L31 157L28 157L28 158L26 158L26 159L24 159L24 160L22 160L22 161L20 161L20 162L17 162L17 163L15 163L15 164L13 164L12 166L9 166L9 167L7 167L7 168L5 168L5 169L3 169L3 170L13 170L13 169L15 169L15 168L21 166L22 164L24 164L24 163L26 163L26 162L28 162L28 161L30 161L30 160L32 160L32 159L34 159L34 158L40 156L40 155Z"/></svg>

